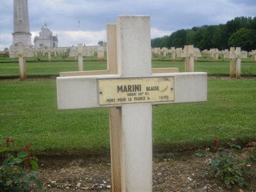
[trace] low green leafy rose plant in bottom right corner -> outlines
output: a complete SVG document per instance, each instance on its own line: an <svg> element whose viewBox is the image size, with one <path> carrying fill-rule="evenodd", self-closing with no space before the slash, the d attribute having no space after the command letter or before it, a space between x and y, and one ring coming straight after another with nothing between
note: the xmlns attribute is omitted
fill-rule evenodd
<svg viewBox="0 0 256 192"><path fill-rule="evenodd" d="M216 177L219 177L227 186L232 184L238 184L238 186L248 186L248 182L244 175L250 171L252 166L256 165L256 142L250 142L247 144L247 148L243 151L246 153L247 158L242 161L237 161L237 157L232 153L232 147L241 148L239 145L230 145L230 150L225 150L218 147L219 140L214 137L214 143L216 144L216 154L209 159L210 166L207 167L207 171L202 173L202 177L205 177L207 172L216 173ZM234 150L234 149L233 149ZM196 156L203 156L201 153Z"/></svg>

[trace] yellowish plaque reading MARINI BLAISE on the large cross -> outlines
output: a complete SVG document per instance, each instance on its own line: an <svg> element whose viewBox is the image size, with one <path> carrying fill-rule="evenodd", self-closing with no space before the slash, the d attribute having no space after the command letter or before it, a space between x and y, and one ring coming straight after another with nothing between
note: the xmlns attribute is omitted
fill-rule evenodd
<svg viewBox="0 0 256 192"><path fill-rule="evenodd" d="M98 79L99 105L174 100L173 77Z"/></svg>

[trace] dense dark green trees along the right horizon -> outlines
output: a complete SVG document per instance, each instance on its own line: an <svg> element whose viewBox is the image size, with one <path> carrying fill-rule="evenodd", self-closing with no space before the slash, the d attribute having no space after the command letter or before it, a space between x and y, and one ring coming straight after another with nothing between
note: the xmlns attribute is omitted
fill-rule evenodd
<svg viewBox="0 0 256 192"><path fill-rule="evenodd" d="M180 29L170 36L154 38L152 47L184 47L194 45L200 50L241 47L244 51L256 49L256 17L236 17L226 24Z"/></svg>

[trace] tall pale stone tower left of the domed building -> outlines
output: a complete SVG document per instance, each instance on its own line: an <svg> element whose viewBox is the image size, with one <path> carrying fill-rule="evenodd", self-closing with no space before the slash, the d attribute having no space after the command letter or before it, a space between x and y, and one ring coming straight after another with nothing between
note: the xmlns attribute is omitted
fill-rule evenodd
<svg viewBox="0 0 256 192"><path fill-rule="evenodd" d="M18 44L26 48L33 47L31 33L29 32L28 0L13 0L13 44L10 49Z"/></svg>

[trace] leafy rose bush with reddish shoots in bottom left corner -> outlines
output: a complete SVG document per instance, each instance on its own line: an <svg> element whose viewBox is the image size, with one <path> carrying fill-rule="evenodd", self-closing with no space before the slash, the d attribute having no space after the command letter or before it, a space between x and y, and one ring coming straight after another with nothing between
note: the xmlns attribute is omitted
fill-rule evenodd
<svg viewBox="0 0 256 192"><path fill-rule="evenodd" d="M10 143L14 143L13 140L4 138L6 140L6 147L0 145L0 154L3 153L3 165L0 167L0 191L28 191L29 182L35 182L40 191L42 191L42 184L40 180L36 179L38 170L38 160L36 157L30 157L29 147L30 143L25 148L24 152L19 152L17 157L8 153L8 147ZM32 166L33 172L24 172L26 168ZM23 167L23 168L22 168Z"/></svg>

